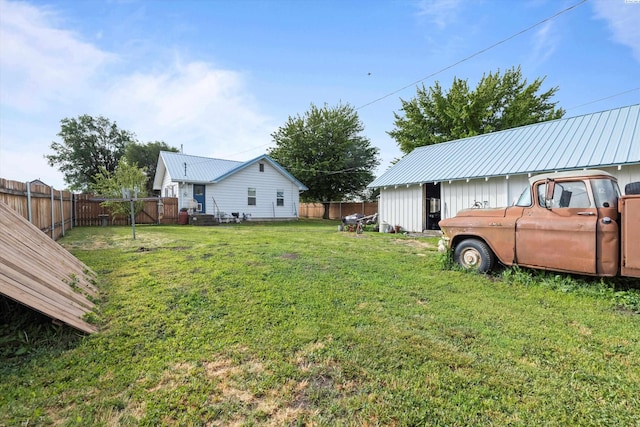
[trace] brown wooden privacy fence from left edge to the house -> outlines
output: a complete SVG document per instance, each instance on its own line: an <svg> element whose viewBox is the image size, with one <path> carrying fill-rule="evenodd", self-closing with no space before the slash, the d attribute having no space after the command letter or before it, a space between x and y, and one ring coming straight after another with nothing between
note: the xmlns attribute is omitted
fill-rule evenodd
<svg viewBox="0 0 640 427"><path fill-rule="evenodd" d="M93 195L56 190L39 182L0 178L0 201L54 240L72 227L131 223L130 217L112 215ZM177 224L178 211L177 198L149 198L144 200L135 221L136 224Z"/></svg>

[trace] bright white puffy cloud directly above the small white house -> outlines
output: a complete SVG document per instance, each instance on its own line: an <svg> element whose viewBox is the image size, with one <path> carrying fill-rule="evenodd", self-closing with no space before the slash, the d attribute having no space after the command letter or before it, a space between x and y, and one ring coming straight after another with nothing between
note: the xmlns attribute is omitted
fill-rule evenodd
<svg viewBox="0 0 640 427"><path fill-rule="evenodd" d="M135 73L106 94L104 107L128 118L143 140L163 140L188 154L247 159L265 152L273 126L258 112L243 75L203 62L176 62L159 73ZM249 156L251 156L249 155Z"/></svg>

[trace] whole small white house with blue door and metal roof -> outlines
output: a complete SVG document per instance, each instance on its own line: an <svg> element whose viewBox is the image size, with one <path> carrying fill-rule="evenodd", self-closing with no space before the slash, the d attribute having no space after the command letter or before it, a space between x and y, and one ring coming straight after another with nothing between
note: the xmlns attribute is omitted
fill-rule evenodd
<svg viewBox="0 0 640 427"><path fill-rule="evenodd" d="M298 218L307 187L266 154L238 162L162 151L153 189L194 213L283 220Z"/></svg>

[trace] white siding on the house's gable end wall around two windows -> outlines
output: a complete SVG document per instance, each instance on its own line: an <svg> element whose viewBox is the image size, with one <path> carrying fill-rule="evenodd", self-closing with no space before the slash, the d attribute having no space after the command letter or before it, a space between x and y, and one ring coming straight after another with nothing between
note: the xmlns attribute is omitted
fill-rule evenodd
<svg viewBox="0 0 640 427"><path fill-rule="evenodd" d="M219 212L238 212L240 215L250 215L254 220L298 218L298 187L269 162L262 164L264 172L260 172L259 163L255 163L217 184L207 185L206 213L217 215ZM255 206L248 204L249 188L256 189ZM278 190L284 191L284 206L277 206Z"/></svg>

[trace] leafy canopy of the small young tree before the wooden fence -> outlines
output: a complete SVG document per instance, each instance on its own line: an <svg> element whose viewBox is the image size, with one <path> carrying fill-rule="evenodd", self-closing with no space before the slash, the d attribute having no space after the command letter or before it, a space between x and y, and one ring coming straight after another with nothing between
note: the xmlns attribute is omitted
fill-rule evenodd
<svg viewBox="0 0 640 427"><path fill-rule="evenodd" d="M100 167L100 172L94 176L89 189L94 194L106 199L124 198L123 190L129 190L130 197L143 198L147 196L147 181L146 169L139 168L135 163L129 163L123 157L113 172L108 171L104 166ZM131 215L130 202L106 200L101 205L109 208L113 215L120 214L125 217ZM143 206L143 201L135 202L135 213L140 212Z"/></svg>

